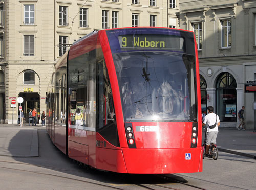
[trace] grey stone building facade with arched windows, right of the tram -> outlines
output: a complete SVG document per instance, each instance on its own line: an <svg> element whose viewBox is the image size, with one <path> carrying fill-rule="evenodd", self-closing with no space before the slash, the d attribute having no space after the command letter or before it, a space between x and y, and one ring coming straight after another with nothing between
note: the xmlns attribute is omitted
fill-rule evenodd
<svg viewBox="0 0 256 190"><path fill-rule="evenodd" d="M181 0L180 28L195 32L198 43L202 108L214 106L221 127L238 125L245 106L247 129L256 129L256 1Z"/></svg>

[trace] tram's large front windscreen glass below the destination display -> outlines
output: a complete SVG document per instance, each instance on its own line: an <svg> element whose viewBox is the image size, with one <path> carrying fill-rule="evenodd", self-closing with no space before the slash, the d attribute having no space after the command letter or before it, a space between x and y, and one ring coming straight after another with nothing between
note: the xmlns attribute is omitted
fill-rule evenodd
<svg viewBox="0 0 256 190"><path fill-rule="evenodd" d="M197 120L194 56L145 51L113 58L125 122Z"/></svg>

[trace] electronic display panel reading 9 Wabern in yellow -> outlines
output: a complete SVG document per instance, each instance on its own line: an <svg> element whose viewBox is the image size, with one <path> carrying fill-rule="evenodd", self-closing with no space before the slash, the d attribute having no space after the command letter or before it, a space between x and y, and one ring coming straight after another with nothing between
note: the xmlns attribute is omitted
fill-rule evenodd
<svg viewBox="0 0 256 190"><path fill-rule="evenodd" d="M176 49L183 50L184 39L172 35L121 35L118 36L121 49Z"/></svg>

